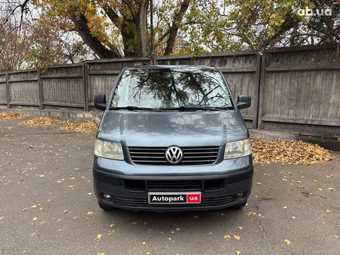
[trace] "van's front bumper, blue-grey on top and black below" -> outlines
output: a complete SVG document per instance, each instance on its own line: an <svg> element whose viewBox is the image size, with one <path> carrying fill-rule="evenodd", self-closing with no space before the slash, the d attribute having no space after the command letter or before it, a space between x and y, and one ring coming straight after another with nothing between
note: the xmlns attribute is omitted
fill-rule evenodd
<svg viewBox="0 0 340 255"><path fill-rule="evenodd" d="M195 168L191 168L191 172L183 170L186 172L184 175L180 175L178 171L169 174L173 171L173 166L160 166L162 173L167 173L167 175L160 175L160 173L126 175L121 173L121 169L103 168L103 166L110 166L110 161L112 160L98 157L94 159L93 176L96 197L103 204L135 211L201 211L235 206L248 199L253 180L251 156L243 159L242 164L248 164L248 166L233 170L223 170L219 166L221 173L215 169L216 166L204 166L203 168L210 168L212 174L208 175L194 174ZM229 161L228 164L230 163L232 162ZM239 159L237 163L240 163ZM124 166L127 163L121 161L119 164ZM135 165L133 167L145 166ZM167 168L171 170L167 171ZM176 168L179 169L180 166ZM152 191L164 193L199 191L201 204L148 204L148 192ZM110 198L105 198L103 194L110 195Z"/></svg>

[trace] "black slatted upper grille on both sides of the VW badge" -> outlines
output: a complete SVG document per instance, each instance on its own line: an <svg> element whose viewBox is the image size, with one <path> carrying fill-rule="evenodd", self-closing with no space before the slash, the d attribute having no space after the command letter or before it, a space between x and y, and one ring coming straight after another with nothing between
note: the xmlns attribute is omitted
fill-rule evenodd
<svg viewBox="0 0 340 255"><path fill-rule="evenodd" d="M182 147L183 159L178 165L213 164L219 155L219 146ZM130 157L139 165L170 165L165 159L166 147L129 147Z"/></svg>

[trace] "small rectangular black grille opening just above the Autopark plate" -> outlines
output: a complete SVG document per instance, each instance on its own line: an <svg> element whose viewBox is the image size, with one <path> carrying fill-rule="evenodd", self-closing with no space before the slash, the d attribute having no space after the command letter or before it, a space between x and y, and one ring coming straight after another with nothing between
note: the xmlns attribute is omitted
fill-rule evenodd
<svg viewBox="0 0 340 255"><path fill-rule="evenodd" d="M201 191L201 181L148 181L148 191Z"/></svg>

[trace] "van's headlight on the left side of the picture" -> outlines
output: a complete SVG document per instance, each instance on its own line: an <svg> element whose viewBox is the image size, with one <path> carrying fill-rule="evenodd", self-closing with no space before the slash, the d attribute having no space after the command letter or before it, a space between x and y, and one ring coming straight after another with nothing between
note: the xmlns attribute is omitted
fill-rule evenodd
<svg viewBox="0 0 340 255"><path fill-rule="evenodd" d="M121 149L120 143L101 141L99 139L96 139L96 142L94 143L94 155L108 159L124 159L123 150Z"/></svg>

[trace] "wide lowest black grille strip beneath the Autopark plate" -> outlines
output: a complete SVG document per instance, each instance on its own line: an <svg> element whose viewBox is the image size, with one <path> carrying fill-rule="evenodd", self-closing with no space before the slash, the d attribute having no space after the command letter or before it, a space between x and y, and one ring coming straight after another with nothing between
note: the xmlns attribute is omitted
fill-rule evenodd
<svg viewBox="0 0 340 255"><path fill-rule="evenodd" d="M147 198L113 197L114 204L133 207L205 207L222 206L235 202L235 195L224 195L222 197L202 197L201 204L148 204Z"/></svg>

